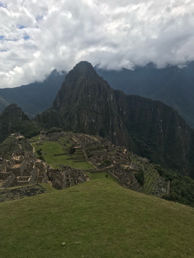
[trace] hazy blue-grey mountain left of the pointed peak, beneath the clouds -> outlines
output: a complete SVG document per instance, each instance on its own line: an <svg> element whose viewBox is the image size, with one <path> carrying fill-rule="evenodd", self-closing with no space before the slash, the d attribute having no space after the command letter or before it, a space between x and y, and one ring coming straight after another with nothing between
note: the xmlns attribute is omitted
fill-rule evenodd
<svg viewBox="0 0 194 258"><path fill-rule="evenodd" d="M65 75L55 69L43 82L0 89L0 113L10 103L16 103L30 118L35 117L51 106Z"/></svg>

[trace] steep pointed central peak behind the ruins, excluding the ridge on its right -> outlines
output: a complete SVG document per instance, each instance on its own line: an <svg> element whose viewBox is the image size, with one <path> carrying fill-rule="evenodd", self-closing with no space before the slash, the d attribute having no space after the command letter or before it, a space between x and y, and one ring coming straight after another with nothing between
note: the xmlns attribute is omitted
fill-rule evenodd
<svg viewBox="0 0 194 258"><path fill-rule="evenodd" d="M109 136L117 145L131 143L118 114L114 90L88 62L80 62L69 72L52 108L77 132Z"/></svg>

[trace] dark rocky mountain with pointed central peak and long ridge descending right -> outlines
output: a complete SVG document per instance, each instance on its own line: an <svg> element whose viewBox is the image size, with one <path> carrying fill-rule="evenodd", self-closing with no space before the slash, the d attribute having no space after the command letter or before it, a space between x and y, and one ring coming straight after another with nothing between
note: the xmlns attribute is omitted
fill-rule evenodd
<svg viewBox="0 0 194 258"><path fill-rule="evenodd" d="M193 157L192 130L178 112L160 101L113 90L86 61L65 77L51 109L71 130L99 134L184 174L193 171L188 161Z"/></svg>

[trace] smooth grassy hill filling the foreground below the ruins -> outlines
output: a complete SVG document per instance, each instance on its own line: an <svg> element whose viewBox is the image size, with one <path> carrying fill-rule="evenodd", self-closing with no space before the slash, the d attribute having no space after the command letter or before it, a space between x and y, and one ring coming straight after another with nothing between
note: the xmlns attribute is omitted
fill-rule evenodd
<svg viewBox="0 0 194 258"><path fill-rule="evenodd" d="M193 257L193 208L108 179L0 203L0 210L4 258Z"/></svg>

